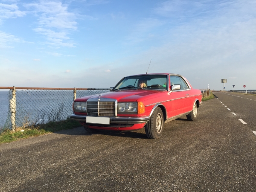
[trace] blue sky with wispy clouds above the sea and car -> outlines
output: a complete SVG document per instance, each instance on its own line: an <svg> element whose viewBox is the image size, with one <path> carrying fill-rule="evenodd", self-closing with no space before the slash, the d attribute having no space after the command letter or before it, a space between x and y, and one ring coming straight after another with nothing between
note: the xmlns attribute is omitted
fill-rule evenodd
<svg viewBox="0 0 256 192"><path fill-rule="evenodd" d="M108 88L177 73L256 89L255 0L0 0L0 86Z"/></svg>

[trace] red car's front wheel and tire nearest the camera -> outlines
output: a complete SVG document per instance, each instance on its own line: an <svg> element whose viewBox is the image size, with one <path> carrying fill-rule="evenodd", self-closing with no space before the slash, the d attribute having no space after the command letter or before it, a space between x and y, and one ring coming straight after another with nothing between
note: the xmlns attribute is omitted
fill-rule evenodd
<svg viewBox="0 0 256 192"><path fill-rule="evenodd" d="M156 107L148 123L145 125L145 132L149 139L159 139L163 134L163 111Z"/></svg>

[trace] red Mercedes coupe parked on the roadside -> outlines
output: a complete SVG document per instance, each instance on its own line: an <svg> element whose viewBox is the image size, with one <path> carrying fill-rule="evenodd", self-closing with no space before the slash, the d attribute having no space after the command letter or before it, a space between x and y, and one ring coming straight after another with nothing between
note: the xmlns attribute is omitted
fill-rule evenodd
<svg viewBox="0 0 256 192"><path fill-rule="evenodd" d="M76 99L74 114L86 131L132 131L145 127L148 138L163 134L163 124L181 116L193 121L201 91L181 75L169 73L124 77L110 92Z"/></svg>

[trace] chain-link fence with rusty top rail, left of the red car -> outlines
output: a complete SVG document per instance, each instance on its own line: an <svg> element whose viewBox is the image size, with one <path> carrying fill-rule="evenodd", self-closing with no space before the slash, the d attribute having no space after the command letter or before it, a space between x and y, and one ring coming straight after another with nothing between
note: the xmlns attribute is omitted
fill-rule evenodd
<svg viewBox="0 0 256 192"><path fill-rule="evenodd" d="M1 89L7 87L0 87ZM3 128L15 128L56 122L73 114L76 98L109 92L109 89L8 87L9 111Z"/></svg>

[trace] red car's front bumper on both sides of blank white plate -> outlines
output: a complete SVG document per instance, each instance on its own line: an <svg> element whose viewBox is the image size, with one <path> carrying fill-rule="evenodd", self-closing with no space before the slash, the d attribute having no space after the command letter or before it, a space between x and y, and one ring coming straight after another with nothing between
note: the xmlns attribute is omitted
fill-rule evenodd
<svg viewBox="0 0 256 192"><path fill-rule="evenodd" d="M73 119L75 121L81 121L81 122L86 122L86 117L85 115L71 115L70 119ZM118 116L113 116L110 117L110 123L116 123L116 124L139 124L139 123L144 123L148 122L150 119L149 116L146 117L118 117Z"/></svg>

